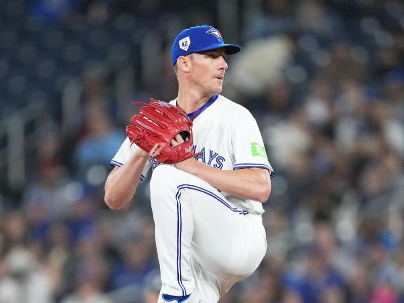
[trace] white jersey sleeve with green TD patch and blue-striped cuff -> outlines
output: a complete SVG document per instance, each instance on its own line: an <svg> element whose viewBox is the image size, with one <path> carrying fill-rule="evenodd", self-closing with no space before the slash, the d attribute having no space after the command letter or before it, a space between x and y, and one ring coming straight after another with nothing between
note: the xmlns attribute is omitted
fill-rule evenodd
<svg viewBox="0 0 404 303"><path fill-rule="evenodd" d="M231 141L235 158L233 169L265 168L272 178L274 171L268 161L257 121L251 113L244 112L233 119Z"/></svg>

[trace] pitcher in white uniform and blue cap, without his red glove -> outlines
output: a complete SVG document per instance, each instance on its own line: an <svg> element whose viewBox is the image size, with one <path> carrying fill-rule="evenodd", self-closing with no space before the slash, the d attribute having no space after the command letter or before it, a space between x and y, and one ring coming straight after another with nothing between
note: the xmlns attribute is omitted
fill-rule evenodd
<svg viewBox="0 0 404 303"><path fill-rule="evenodd" d="M179 89L170 104L192 120L195 154L171 165L158 163L128 137L111 161L115 168L105 185L111 209L126 205L139 180L153 171L159 303L217 302L257 269L267 249L261 215L273 170L255 119L220 95L225 58L240 49L225 44L212 26L183 30L172 46ZM171 145L186 139L176 135Z"/></svg>

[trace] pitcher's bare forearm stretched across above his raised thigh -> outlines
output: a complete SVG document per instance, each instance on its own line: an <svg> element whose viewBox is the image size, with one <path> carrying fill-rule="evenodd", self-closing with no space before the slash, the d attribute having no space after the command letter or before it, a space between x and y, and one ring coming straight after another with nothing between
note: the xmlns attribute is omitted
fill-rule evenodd
<svg viewBox="0 0 404 303"><path fill-rule="evenodd" d="M237 170L220 170L191 159L176 163L175 166L212 186L229 194L247 198L261 203L268 200L271 192L269 172L262 168L245 168Z"/></svg>

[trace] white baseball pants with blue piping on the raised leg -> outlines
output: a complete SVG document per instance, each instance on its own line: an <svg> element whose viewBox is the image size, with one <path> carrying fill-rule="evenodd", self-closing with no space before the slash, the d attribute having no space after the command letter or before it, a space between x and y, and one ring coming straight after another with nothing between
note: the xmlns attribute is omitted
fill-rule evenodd
<svg viewBox="0 0 404 303"><path fill-rule="evenodd" d="M207 182L170 165L153 171L150 192L161 293L197 289L213 303L257 269L267 249L260 215L237 209Z"/></svg>

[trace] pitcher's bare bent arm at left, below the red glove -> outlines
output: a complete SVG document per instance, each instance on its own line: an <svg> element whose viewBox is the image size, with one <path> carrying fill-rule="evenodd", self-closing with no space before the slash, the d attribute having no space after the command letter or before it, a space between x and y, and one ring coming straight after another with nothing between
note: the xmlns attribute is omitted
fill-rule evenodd
<svg viewBox="0 0 404 303"><path fill-rule="evenodd" d="M124 166L110 173L105 184L104 198L109 208L120 209L133 198L147 159L142 150L138 150Z"/></svg>

